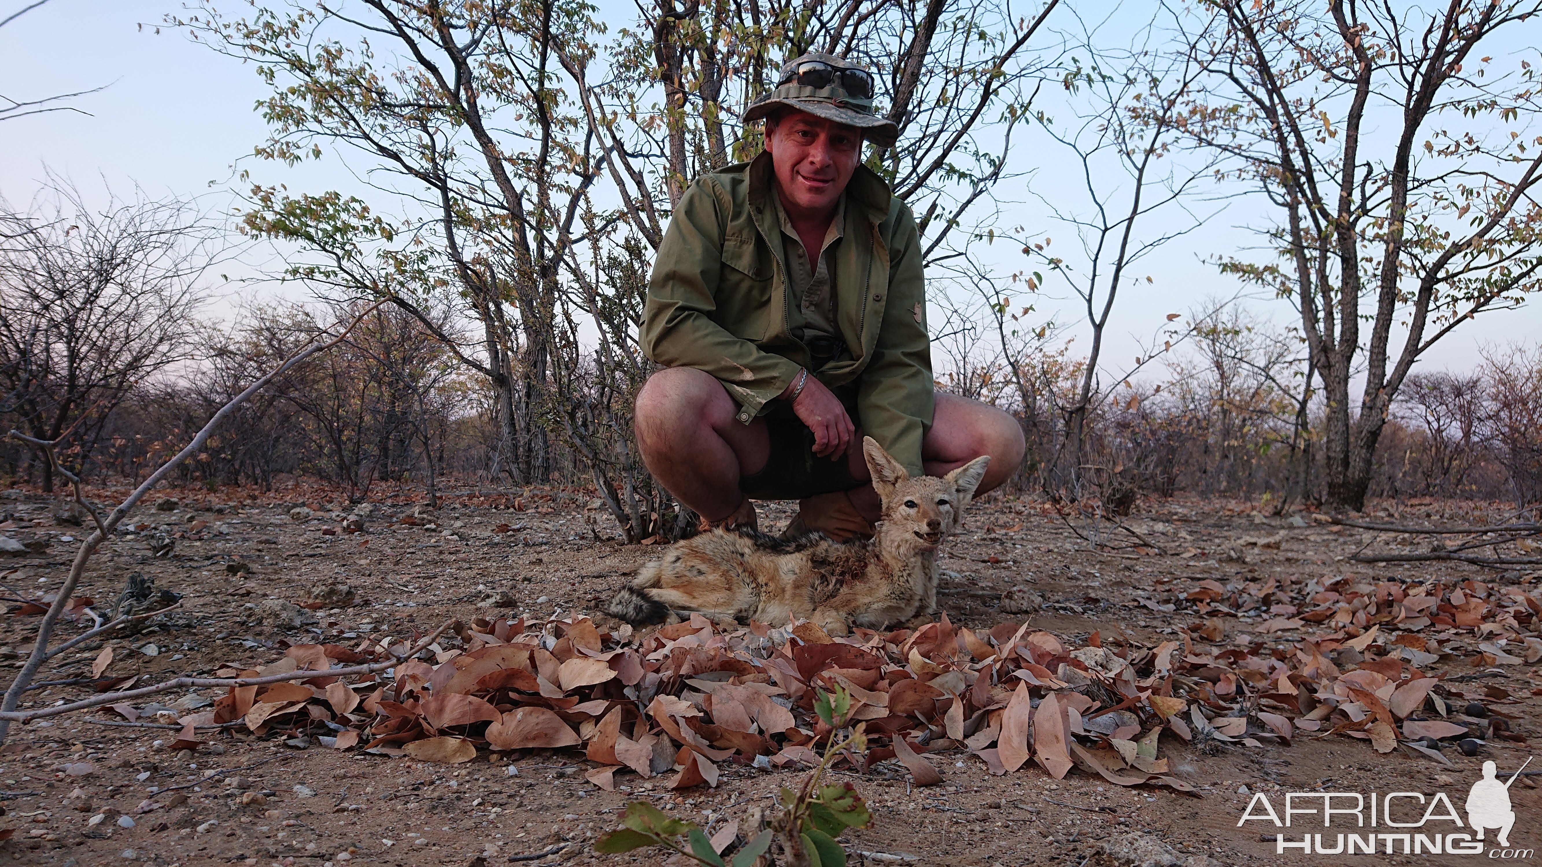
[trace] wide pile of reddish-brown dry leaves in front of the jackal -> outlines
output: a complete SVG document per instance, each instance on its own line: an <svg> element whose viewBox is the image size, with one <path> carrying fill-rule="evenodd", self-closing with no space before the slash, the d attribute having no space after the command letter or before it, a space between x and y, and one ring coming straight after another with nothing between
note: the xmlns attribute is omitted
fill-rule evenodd
<svg viewBox="0 0 1542 867"><path fill-rule="evenodd" d="M1520 634L1537 601L1473 581L1284 588L1204 581L1167 598L1173 602L1149 604L1206 619L1158 647L1093 633L1087 647L1069 648L1027 624L975 633L945 618L850 638L808 622L725 634L692 618L640 639L581 616L532 625L476 619L419 658L350 682L327 670L384 658L384 645L295 645L265 668L221 675L315 678L231 688L213 710L180 718L173 747L196 747L197 725L241 721L254 735L438 762L470 761L480 748L583 750L600 787L629 770L672 773L669 785L683 788L715 785L723 762L816 764L810 747L828 730L814 699L843 688L873 744L840 759L860 772L899 759L916 784L933 784L941 776L919 755L958 752L996 775L1033 759L1055 778L1081 767L1119 785L1192 792L1167 773L1163 733L1201 748L1289 742L1301 731L1369 739L1380 752L1402 739L1437 761L1442 739L1519 739L1490 711L1508 696L1493 687L1462 691L1422 668L1465 647L1459 636L1479 642L1479 664L1542 658L1542 641ZM1260 610L1271 619L1249 628L1274 641L1238 634L1220 650L1195 644L1195 636L1220 641L1221 618ZM1278 641L1309 622L1342 628ZM1416 634L1429 628L1443 631Z"/></svg>

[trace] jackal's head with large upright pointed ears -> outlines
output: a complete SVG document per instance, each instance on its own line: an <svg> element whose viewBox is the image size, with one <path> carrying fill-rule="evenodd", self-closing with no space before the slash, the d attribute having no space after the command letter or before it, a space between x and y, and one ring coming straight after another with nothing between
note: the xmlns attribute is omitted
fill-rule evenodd
<svg viewBox="0 0 1542 867"><path fill-rule="evenodd" d="M904 553L934 551L964 516L964 507L975 499L975 488L985 477L990 456L976 457L942 476L905 473L873 437L862 437L862 456L873 473L873 488L884 502L879 539L885 547Z"/></svg>

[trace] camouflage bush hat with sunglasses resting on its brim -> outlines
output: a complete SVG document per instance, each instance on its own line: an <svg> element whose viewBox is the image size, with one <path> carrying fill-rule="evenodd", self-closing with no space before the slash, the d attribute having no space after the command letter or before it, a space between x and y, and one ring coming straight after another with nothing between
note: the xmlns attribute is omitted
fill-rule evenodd
<svg viewBox="0 0 1542 867"><path fill-rule="evenodd" d="M779 106L856 126L864 139L888 148L899 139L893 120L873 111L873 74L833 54L810 52L782 65L777 86L745 109L743 122L760 120Z"/></svg>

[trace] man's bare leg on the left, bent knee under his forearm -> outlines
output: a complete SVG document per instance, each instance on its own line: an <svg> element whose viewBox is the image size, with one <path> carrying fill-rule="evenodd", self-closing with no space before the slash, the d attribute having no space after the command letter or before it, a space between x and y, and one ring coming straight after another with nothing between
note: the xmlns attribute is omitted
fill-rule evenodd
<svg viewBox="0 0 1542 867"><path fill-rule="evenodd" d="M666 368L648 377L637 394L637 445L643 464L677 500L703 521L754 516L739 490L771 459L763 419L748 425L717 379L695 368ZM740 524L743 521L736 521Z"/></svg>

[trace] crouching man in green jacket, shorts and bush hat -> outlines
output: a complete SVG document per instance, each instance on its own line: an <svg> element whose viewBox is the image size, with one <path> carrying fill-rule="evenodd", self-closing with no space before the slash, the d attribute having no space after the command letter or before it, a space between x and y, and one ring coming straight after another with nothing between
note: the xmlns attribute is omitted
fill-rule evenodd
<svg viewBox="0 0 1542 867"><path fill-rule="evenodd" d="M836 539L879 517L862 434L911 474L990 454L979 490L1001 485L1022 431L934 393L916 222L860 165L864 140L899 134L871 74L805 54L743 115L762 119L765 151L692 183L658 248L641 345L666 370L637 397L649 471L703 528L754 528L752 499L797 499L788 533Z"/></svg>

